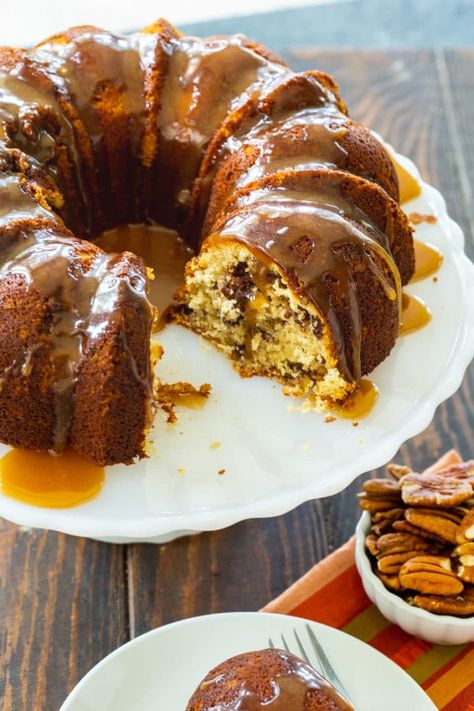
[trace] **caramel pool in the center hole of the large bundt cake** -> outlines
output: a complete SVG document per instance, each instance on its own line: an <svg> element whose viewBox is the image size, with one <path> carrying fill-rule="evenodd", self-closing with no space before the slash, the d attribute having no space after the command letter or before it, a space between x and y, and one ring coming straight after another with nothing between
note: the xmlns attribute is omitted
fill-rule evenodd
<svg viewBox="0 0 474 711"><path fill-rule="evenodd" d="M122 225L104 232L96 244L106 252L133 252L153 269L149 298L159 314L173 303L173 294L183 282L184 266L191 250L174 230L158 225Z"/></svg>

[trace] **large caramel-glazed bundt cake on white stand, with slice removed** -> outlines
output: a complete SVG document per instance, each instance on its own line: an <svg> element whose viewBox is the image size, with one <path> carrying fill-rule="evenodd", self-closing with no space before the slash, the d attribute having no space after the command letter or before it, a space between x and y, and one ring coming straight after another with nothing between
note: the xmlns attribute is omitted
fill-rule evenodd
<svg viewBox="0 0 474 711"><path fill-rule="evenodd" d="M94 239L179 231L172 317L327 408L390 352L414 267L385 149L334 81L239 35L77 27L0 48L0 440L145 455L143 261Z"/></svg>

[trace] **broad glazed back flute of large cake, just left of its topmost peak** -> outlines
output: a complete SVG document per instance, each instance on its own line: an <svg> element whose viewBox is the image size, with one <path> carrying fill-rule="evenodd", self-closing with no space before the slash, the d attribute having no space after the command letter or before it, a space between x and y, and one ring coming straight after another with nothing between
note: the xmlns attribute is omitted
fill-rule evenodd
<svg viewBox="0 0 474 711"><path fill-rule="evenodd" d="M65 38L43 42L32 56L61 78L84 125L100 176L102 215L93 228L96 232L136 218L134 188L146 115L145 77L156 36L120 37L79 27L69 30Z"/></svg>

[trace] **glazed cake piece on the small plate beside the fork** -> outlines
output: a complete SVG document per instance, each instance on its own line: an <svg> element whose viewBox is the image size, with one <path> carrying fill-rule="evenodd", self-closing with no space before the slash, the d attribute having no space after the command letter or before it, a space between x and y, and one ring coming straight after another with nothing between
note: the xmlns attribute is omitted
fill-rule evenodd
<svg viewBox="0 0 474 711"><path fill-rule="evenodd" d="M280 649L247 652L212 669L186 711L353 711L309 664Z"/></svg>

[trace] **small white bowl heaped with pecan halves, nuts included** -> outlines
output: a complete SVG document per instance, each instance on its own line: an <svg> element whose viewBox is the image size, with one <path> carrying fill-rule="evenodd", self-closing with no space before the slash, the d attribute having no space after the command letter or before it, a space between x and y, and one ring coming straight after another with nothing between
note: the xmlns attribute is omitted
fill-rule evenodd
<svg viewBox="0 0 474 711"><path fill-rule="evenodd" d="M435 644L474 640L474 460L389 465L359 494L356 565L391 622Z"/></svg>

